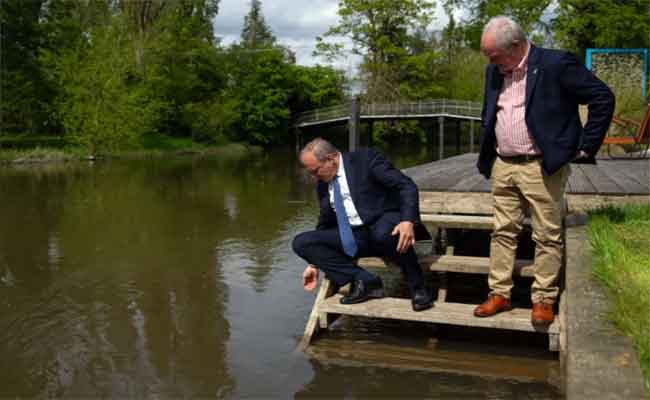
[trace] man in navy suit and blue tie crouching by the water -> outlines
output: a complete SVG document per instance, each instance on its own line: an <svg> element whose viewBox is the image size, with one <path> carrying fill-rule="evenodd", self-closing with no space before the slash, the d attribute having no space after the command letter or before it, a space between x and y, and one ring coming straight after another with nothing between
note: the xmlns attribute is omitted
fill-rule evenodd
<svg viewBox="0 0 650 400"><path fill-rule="evenodd" d="M422 269L413 250L420 225L418 189L381 154L364 149L340 153L317 138L300 152L303 167L318 180L316 230L299 234L293 250L309 265L302 274L313 290L322 270L335 287L352 283L342 304L384 297L381 279L356 265L359 257L386 257L405 273L413 310L431 308Z"/></svg>

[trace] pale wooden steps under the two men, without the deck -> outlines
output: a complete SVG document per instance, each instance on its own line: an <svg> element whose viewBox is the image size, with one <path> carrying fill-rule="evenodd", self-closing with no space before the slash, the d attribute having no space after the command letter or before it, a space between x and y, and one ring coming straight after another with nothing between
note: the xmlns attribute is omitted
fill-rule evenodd
<svg viewBox="0 0 650 400"><path fill-rule="evenodd" d="M423 214L422 221L429 229L479 229L492 230L493 217L485 215L457 214ZM530 220L525 221L530 224ZM452 246L446 247L446 254L431 254L432 246L421 251L416 247L420 265L424 270L440 274L438 297L433 308L415 312L411 309L410 299L385 297L373 299L354 305L340 304L341 294L333 293L330 281L323 277L316 300L312 308L301 346L309 346L313 336L319 329L327 329L338 315L361 316L371 318L387 318L406 321L430 322L436 324L462 325L481 328L508 329L515 331L540 332L549 337L549 349L558 351L560 347L560 316L547 327L537 327L531 323L530 309L515 308L488 318L478 318L473 314L476 304L447 302L447 273L483 274L489 271L488 257L469 257L454 255ZM358 260L358 265L364 268L386 267L381 258L368 257ZM534 276L532 260L516 260L515 275ZM562 300L561 300L562 301ZM564 307L560 305L560 313Z"/></svg>

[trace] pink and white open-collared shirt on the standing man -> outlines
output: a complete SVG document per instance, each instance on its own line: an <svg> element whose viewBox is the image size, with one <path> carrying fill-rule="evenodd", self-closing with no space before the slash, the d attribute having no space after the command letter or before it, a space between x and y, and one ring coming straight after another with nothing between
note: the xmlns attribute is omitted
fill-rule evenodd
<svg viewBox="0 0 650 400"><path fill-rule="evenodd" d="M497 100L497 153L504 157L541 154L526 126L526 64L528 51L519 65L506 74Z"/></svg>

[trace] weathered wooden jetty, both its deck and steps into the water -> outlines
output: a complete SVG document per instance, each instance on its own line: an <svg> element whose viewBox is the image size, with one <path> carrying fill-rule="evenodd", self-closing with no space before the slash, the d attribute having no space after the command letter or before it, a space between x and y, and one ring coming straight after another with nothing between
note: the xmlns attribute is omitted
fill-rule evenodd
<svg viewBox="0 0 650 400"><path fill-rule="evenodd" d="M428 229L492 230L491 183L479 175L476 160L477 154L470 153L404 171L420 189L421 218ZM572 164L571 169L565 195L565 226L583 223L586 211L599 206L650 202L650 159L601 159L596 165ZM409 299L391 297L343 305L339 303L341 295L332 293L330 282L323 278L305 328L303 348L309 346L319 329L326 329L338 315L540 332L548 335L551 351L559 351L563 346L564 296L560 296L560 314L546 328L532 325L530 309L514 309L493 317L477 318L473 316L476 304L446 301L446 274L487 274L489 258L454 255L453 246L447 246L445 254L434 254L431 246L424 251L421 248L417 250L422 268L441 275L434 308L414 312ZM364 268L386 266L379 258L362 258L358 263ZM516 260L515 274L533 276L533 261Z"/></svg>

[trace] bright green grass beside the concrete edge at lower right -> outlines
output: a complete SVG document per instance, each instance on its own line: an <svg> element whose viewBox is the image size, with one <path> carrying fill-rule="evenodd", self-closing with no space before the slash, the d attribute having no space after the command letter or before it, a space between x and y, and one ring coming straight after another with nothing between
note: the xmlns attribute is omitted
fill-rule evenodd
<svg viewBox="0 0 650 400"><path fill-rule="evenodd" d="M594 275L607 288L612 322L636 349L650 394L650 204L591 213Z"/></svg>

